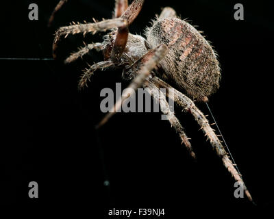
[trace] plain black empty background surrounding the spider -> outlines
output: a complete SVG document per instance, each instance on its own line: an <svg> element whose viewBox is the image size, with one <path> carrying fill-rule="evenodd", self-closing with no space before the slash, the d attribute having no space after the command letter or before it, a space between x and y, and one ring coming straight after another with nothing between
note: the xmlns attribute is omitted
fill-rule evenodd
<svg viewBox="0 0 274 219"><path fill-rule="evenodd" d="M57 2L1 3L0 57L51 57L58 27L111 18L114 7L114 1L71 0L48 28ZM30 3L38 4L39 21L29 21ZM236 3L245 7L244 21L234 20ZM169 123L160 120L161 114L116 114L95 133L93 127L104 115L100 91L114 89L121 71L98 71L79 92L77 81L86 62L99 62L102 55L92 51L69 66L62 60L83 40L101 42L103 34L69 36L60 44L58 61L0 60L1 207L40 209L40 214L58 209L91 218L108 218L112 207L154 207L164 208L164 218L172 218L199 212L214 216L216 209L235 215L270 206L273 134L266 125L273 117L271 8L264 1L146 1L130 27L132 34L143 34L168 5L199 25L219 53L221 88L209 104L257 207L247 198L234 198L234 179L192 116L180 113L179 107L176 115L192 138L197 163ZM209 114L203 103L197 105ZM103 185L105 179L109 187ZM28 197L30 181L38 182L37 199Z"/></svg>

